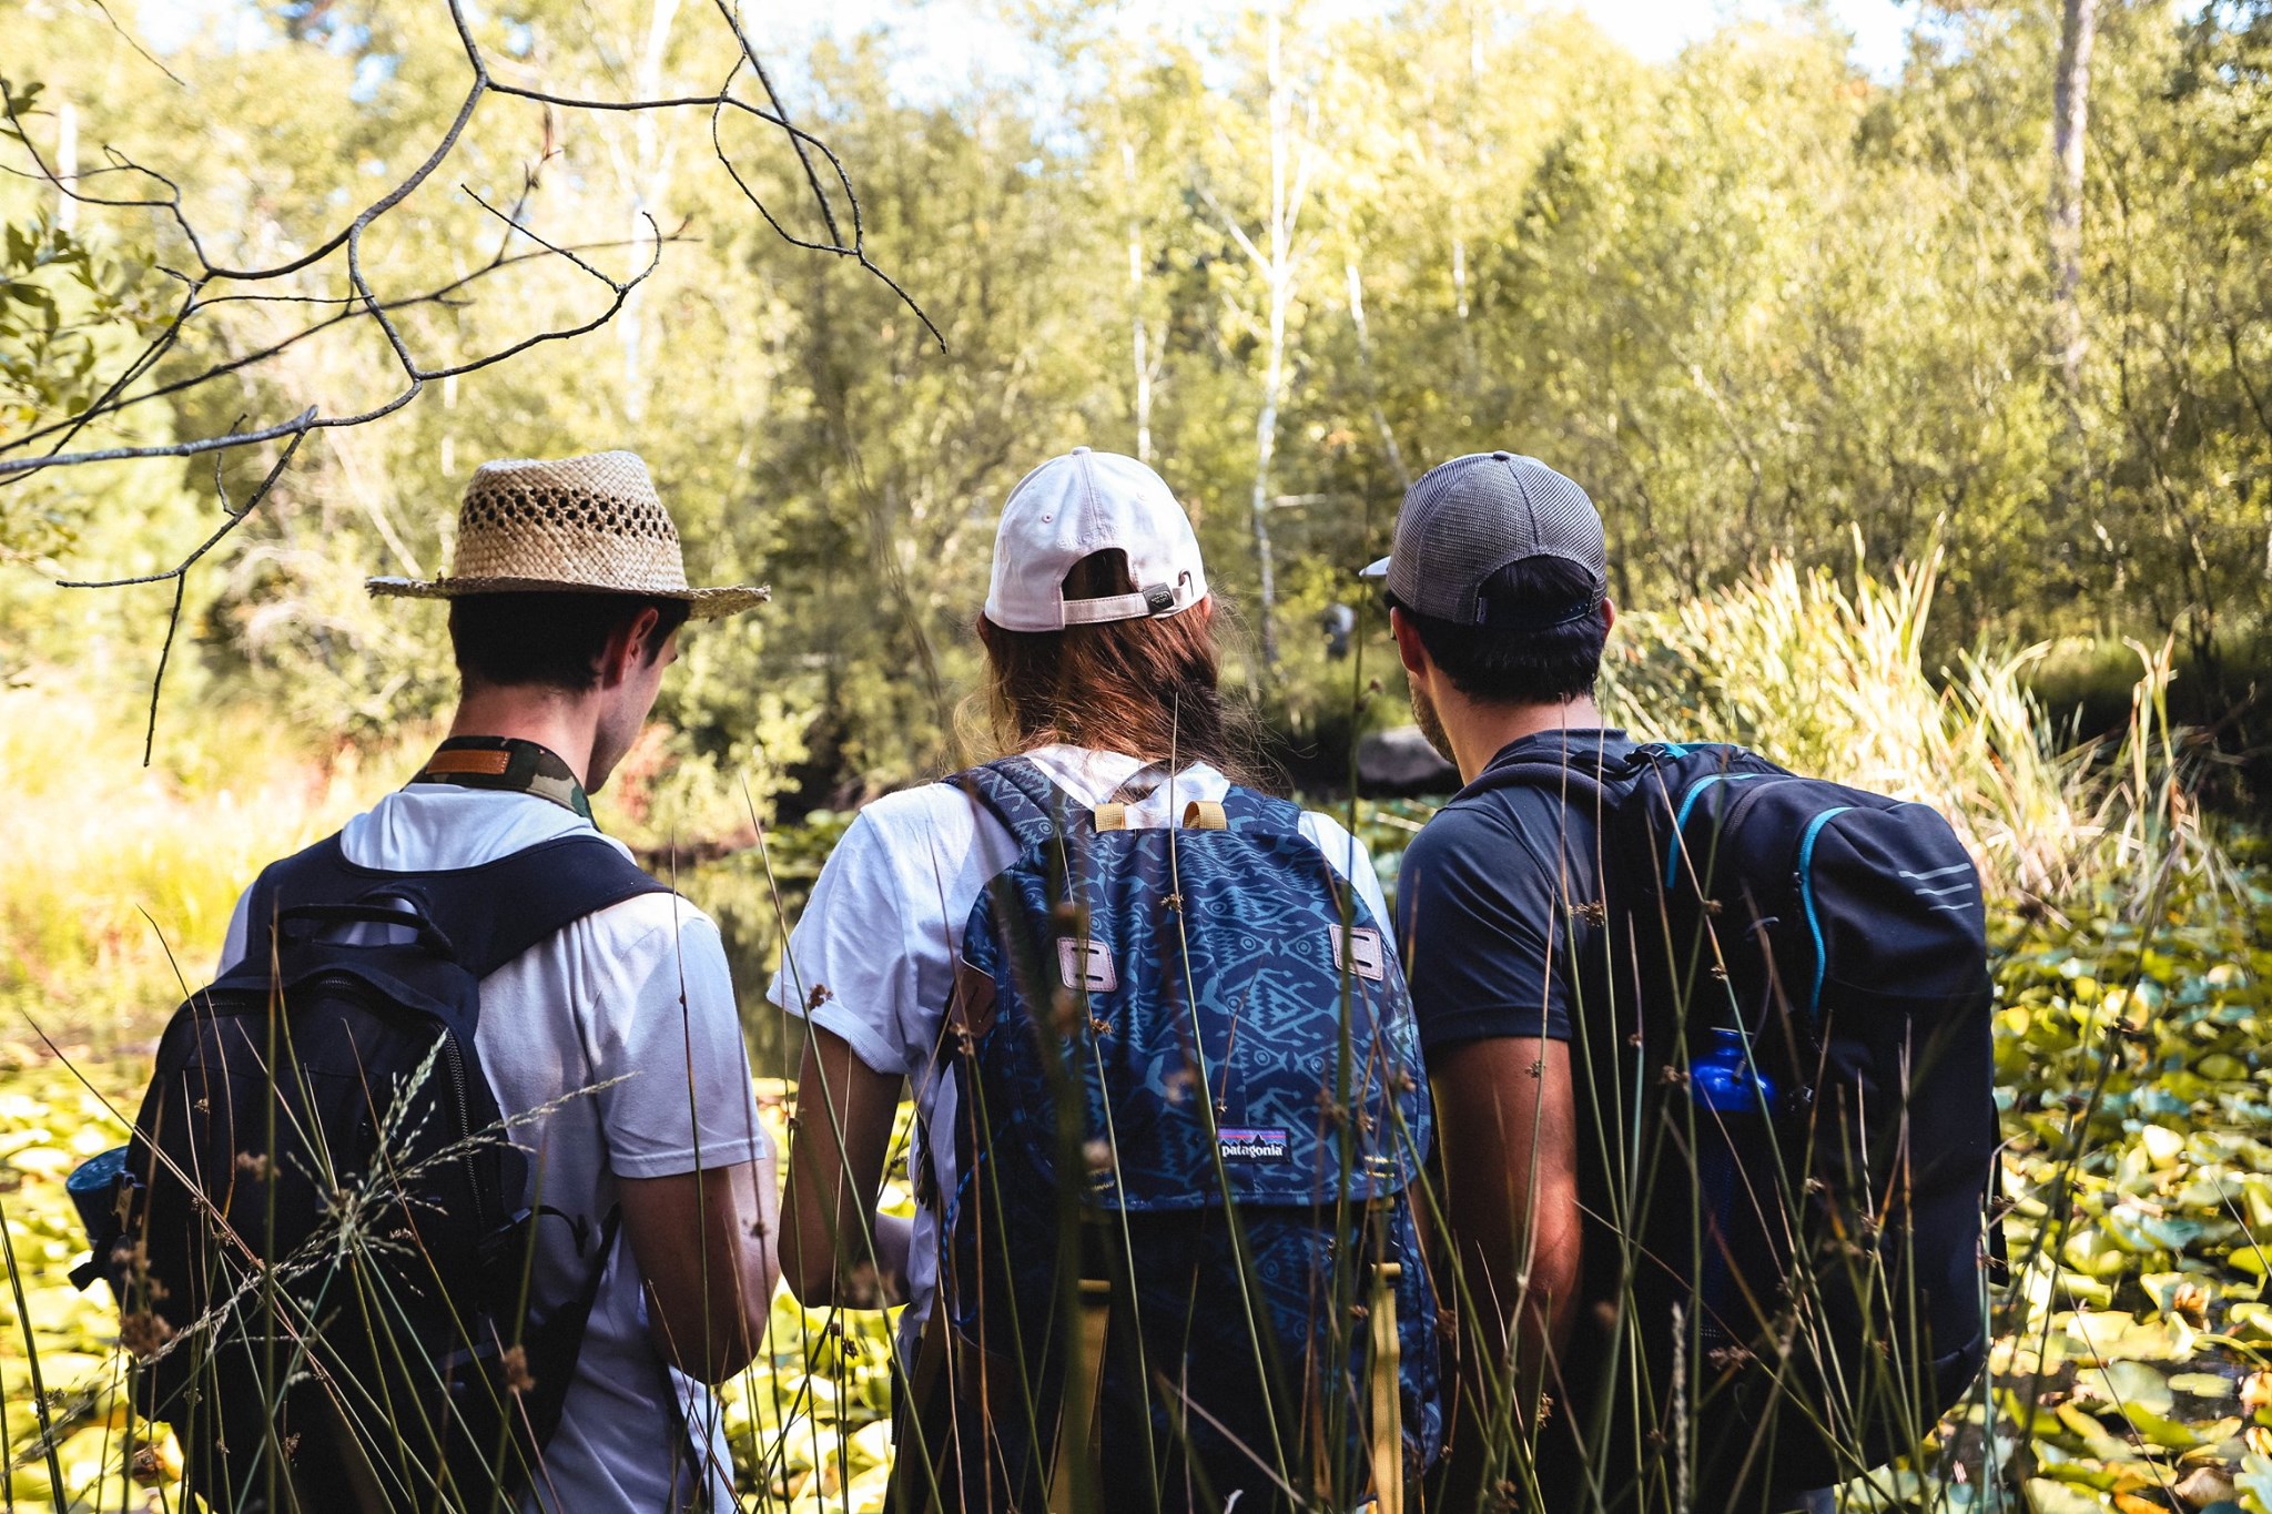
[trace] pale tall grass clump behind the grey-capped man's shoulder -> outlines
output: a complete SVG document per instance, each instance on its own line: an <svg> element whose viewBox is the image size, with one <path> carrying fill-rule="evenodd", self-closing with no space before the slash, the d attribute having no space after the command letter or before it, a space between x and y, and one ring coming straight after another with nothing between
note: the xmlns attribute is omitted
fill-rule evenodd
<svg viewBox="0 0 2272 1514"><path fill-rule="evenodd" d="M1983 647L1924 661L1943 554L1856 567L1852 588L1774 558L1672 611L1620 622L1604 704L1656 740L1736 740L1797 772L1931 804L1988 888L2058 908L2111 892L2136 915L2177 869L2224 878L2199 808L2202 760L2170 726L2172 645L2138 658L2122 731L2061 731L2029 688L2052 651Z"/></svg>

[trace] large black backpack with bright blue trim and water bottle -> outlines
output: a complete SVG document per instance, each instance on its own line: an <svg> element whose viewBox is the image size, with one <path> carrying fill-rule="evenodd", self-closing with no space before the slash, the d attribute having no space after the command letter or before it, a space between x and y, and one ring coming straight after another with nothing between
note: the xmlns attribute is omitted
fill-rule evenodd
<svg viewBox="0 0 2272 1514"><path fill-rule="evenodd" d="M1618 1149L1588 1196L1622 1301L1606 1371L1640 1373L1599 1389L1665 1457L1640 1482L1770 1507L1913 1450L1986 1362L1979 872L1936 810L1740 747L1568 751L1465 792L1599 815L1572 1060L1604 1121L1581 1103L1581 1128Z"/></svg>

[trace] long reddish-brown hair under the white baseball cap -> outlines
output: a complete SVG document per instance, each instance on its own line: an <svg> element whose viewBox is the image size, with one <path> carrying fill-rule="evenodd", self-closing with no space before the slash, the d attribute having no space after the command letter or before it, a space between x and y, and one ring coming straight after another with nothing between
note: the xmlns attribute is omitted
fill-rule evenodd
<svg viewBox="0 0 2272 1514"><path fill-rule="evenodd" d="M1127 554L1106 549L1075 563L1063 588L1066 599L1104 599L1134 595L1136 579ZM979 615L995 738L1011 751L1068 742L1252 779L1250 722L1218 688L1216 620L1186 608L1063 631L1004 631Z"/></svg>

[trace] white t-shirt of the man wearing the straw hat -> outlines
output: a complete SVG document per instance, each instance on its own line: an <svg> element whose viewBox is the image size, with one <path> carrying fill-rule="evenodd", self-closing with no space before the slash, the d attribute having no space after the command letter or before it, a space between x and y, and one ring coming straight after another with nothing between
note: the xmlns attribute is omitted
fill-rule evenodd
<svg viewBox="0 0 2272 1514"><path fill-rule="evenodd" d="M359 867L416 872L477 867L573 831L591 822L550 799L420 783L350 819L341 847ZM243 951L239 899L223 967ZM484 978L475 1046L507 1117L620 1078L513 1130L529 1153L532 1196L586 1217L593 1237L616 1205L616 1178L770 1153L725 944L677 894L586 915ZM573 1298L591 1264L568 1223L538 1221L538 1310ZM704 1503L734 1507L718 1401L654 1353L638 1262L618 1237L543 1478L523 1507L659 1514Z"/></svg>

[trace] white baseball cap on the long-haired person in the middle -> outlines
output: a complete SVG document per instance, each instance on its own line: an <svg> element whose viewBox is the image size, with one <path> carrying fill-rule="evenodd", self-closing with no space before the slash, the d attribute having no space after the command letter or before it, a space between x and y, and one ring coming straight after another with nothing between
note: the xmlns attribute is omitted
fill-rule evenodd
<svg viewBox="0 0 2272 1514"><path fill-rule="evenodd" d="M1093 552L1129 558L1134 595L1066 599L1066 574ZM1191 518L1166 479L1131 456L1075 447L1018 479L995 531L986 620L1004 631L1063 631L1168 617L1206 599Z"/></svg>

